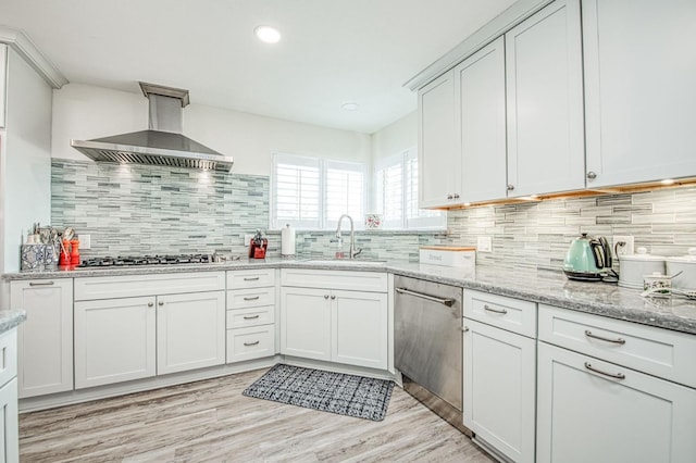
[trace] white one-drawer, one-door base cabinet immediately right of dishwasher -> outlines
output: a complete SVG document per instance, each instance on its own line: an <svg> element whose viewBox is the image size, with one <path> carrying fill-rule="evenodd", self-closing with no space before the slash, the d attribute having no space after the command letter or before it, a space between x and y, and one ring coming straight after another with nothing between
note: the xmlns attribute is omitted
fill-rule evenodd
<svg viewBox="0 0 696 463"><path fill-rule="evenodd" d="M505 458L532 463L536 304L467 289L463 313L464 426Z"/></svg>

